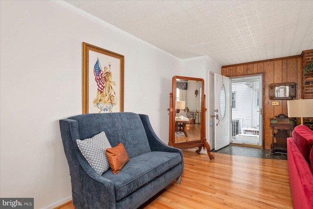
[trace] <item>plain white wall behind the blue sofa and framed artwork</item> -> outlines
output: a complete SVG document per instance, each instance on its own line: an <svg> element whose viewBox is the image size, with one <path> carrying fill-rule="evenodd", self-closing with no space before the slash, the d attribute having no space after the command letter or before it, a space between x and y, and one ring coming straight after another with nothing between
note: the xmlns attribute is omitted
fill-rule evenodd
<svg viewBox="0 0 313 209"><path fill-rule="evenodd" d="M181 62L52 1L0 1L0 9L0 195L34 197L35 208L71 195L58 120L82 111L82 42L125 56L125 111L148 114L166 143L172 77L207 80L221 69L207 57Z"/></svg>

